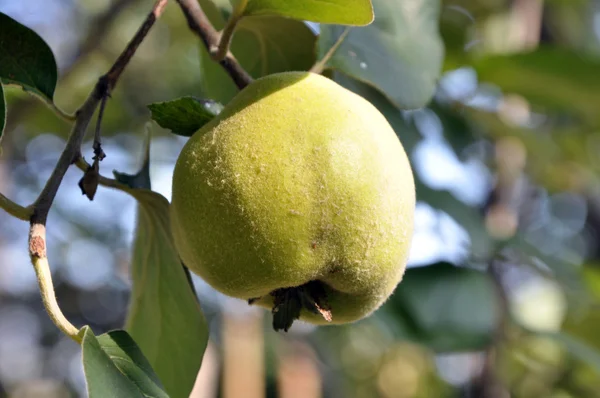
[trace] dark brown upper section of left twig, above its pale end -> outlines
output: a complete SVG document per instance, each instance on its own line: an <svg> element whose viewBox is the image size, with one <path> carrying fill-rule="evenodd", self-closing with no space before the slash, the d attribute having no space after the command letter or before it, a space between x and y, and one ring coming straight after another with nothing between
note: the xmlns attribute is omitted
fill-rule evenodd
<svg viewBox="0 0 600 398"><path fill-rule="evenodd" d="M75 124L71 130L71 134L67 140L65 149L60 155L56 167L48 179L46 186L33 204L33 215L31 216L32 228L36 224L46 224L48 212L50 211L50 207L54 202L56 192L58 191L67 169L72 163L76 162L81 157L81 143L90 120L96 111L96 108L102 99L108 95L109 90L114 88L129 60L133 54L135 54L135 51L144 37L147 35L152 25L154 25L154 22L156 22L156 19L163 12L166 4L167 0L158 0L155 3L152 11L150 14L148 14L148 17L134 38L127 45L117 61L115 61L115 64L110 68L109 72L98 80L98 83L96 83L96 86L94 87L94 90L90 96L77 111L77 119L75 120Z"/></svg>

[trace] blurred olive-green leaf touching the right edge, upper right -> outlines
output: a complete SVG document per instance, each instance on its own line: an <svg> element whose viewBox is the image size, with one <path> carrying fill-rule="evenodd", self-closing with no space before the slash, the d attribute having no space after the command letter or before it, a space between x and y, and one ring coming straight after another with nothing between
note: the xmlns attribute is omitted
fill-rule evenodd
<svg viewBox="0 0 600 398"><path fill-rule="evenodd" d="M600 60L561 48L488 56L476 61L479 80L520 94L547 111L577 115L600 124Z"/></svg>

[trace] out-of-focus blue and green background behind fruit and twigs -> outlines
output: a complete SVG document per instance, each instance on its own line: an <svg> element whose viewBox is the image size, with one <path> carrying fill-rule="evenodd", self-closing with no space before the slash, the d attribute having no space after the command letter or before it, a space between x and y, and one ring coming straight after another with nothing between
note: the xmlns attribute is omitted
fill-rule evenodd
<svg viewBox="0 0 600 398"><path fill-rule="evenodd" d="M200 3L222 27L229 2ZM600 397L600 1L413 3L421 19L375 0L376 25L351 31L326 70L380 109L410 156L419 202L404 281L364 321L284 335L263 311L195 278L211 341L192 396ZM56 103L74 111L151 4L0 0L0 11L49 43ZM254 77L307 70L341 30L254 17L232 51ZM373 47L385 56L369 57ZM414 84L439 68L435 84ZM0 190L27 204L69 126L5 91ZM169 6L108 103L103 170L137 169L149 103L226 103L235 92ZM426 107L402 110L434 92ZM152 137L153 188L169 198L185 138L156 125ZM105 188L89 202L79 178L67 173L50 213L49 256L67 317L101 333L125 319L135 202ZM79 348L42 308L27 230L0 213L0 397L81 396Z"/></svg>

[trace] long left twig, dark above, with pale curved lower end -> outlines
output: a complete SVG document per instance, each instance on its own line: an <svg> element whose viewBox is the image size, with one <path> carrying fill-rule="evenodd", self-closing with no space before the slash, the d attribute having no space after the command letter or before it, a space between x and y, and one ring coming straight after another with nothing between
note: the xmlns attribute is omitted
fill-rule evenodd
<svg viewBox="0 0 600 398"><path fill-rule="evenodd" d="M56 326L78 342L81 341L81 338L78 335L78 329L65 318L56 302L54 294L52 276L50 274L48 257L46 254L46 221L48 219L48 212L52 207L56 192L58 191L67 169L71 164L75 162L79 163L81 158L81 143L96 108L100 102L106 98L109 91L115 87L121 73L129 63L131 57L135 54L135 51L152 25L154 25L154 22L156 22L156 19L161 15L166 4L167 0L158 0L155 3L141 28L119 56L115 64L106 75L98 79L94 90L77 111L75 124L71 130L65 149L60 155L46 186L32 206L33 213L31 215L31 225L29 229L29 255L36 271L44 307Z"/></svg>

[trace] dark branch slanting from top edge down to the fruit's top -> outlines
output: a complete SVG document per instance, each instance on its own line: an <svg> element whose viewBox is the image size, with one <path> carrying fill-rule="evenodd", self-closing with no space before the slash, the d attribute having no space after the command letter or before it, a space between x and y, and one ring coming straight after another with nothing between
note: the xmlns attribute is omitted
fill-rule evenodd
<svg viewBox="0 0 600 398"><path fill-rule="evenodd" d="M198 0L177 0L177 3L181 7L190 29L200 37L208 52L212 54L219 47L220 34L200 8ZM227 52L225 58L218 62L240 90L252 82L252 76L242 68L230 51Z"/></svg>

